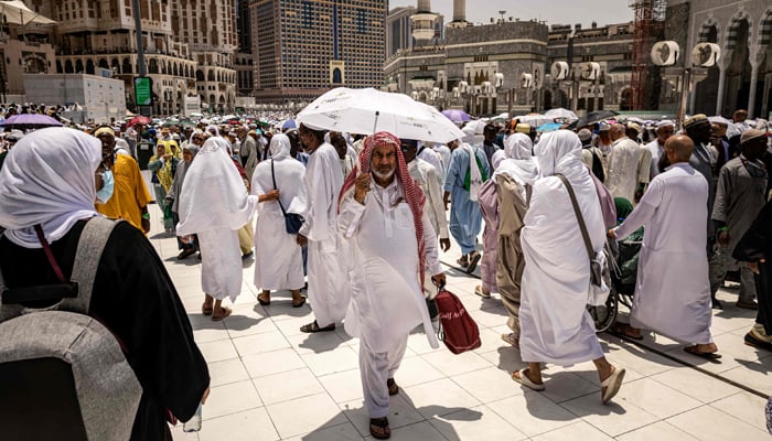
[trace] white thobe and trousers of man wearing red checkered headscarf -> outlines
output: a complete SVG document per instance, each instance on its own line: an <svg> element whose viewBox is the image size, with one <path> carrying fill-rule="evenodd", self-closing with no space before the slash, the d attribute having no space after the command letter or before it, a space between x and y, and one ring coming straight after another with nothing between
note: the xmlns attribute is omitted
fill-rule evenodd
<svg viewBox="0 0 772 441"><path fill-rule="evenodd" d="M399 367L407 336L423 325L431 347L439 347L426 308L418 268L418 246L412 212L404 202L398 180L386 189L373 182L365 205L349 196L340 215L342 234L352 240L352 301L345 331L360 337L360 368L371 418L388 413L386 380ZM394 206L393 202L403 202ZM442 272L437 236L423 214L427 271Z"/></svg>

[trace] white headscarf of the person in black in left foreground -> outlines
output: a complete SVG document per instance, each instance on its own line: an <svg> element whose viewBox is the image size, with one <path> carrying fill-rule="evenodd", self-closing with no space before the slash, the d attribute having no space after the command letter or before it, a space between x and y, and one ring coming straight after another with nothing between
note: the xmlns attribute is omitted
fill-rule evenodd
<svg viewBox="0 0 772 441"><path fill-rule="evenodd" d="M34 226L45 238L61 239L79 219L97 216L94 172L101 141L65 128L36 130L8 153L0 171L0 226L24 248L41 248Z"/></svg>

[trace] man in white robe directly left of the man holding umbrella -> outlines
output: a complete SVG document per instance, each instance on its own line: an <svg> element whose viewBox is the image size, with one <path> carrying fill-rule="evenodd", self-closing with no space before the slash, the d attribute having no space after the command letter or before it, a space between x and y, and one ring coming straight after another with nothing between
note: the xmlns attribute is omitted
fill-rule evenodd
<svg viewBox="0 0 772 441"><path fill-rule="evenodd" d="M300 331L333 331L335 323L343 320L350 299L337 235L337 195L343 173L337 151L324 142L324 131L300 125L298 133L310 155L303 178L307 208L298 245L308 244L308 297L315 318Z"/></svg>

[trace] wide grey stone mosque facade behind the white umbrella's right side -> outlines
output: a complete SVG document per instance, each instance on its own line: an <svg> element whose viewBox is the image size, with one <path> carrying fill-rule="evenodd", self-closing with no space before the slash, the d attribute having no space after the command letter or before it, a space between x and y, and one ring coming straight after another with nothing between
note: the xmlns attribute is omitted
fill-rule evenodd
<svg viewBox="0 0 772 441"><path fill-rule="evenodd" d="M454 1L454 8L439 43L404 36L410 8L389 13L385 89L476 116L630 107L633 23L550 28L501 17L472 24L465 20L465 2ZM558 62L568 65L565 78L551 73Z"/></svg>

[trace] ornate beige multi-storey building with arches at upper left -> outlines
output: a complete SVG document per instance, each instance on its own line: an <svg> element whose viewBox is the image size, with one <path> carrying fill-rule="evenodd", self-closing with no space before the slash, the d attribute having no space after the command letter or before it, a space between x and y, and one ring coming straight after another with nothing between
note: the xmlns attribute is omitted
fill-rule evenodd
<svg viewBox="0 0 772 441"><path fill-rule="evenodd" d="M139 73L131 0L28 0L52 26L26 26L19 40L50 42L55 61L22 72L98 74L110 71L125 82L132 103ZM153 79L153 114L182 114L192 98L211 110L233 109L236 96L234 0L140 0L147 74ZM11 34L19 36L18 30ZM9 44L9 47L12 47ZM29 57L30 62L40 60ZM54 64L55 63L55 68ZM9 73L8 78L15 78ZM21 75L19 75L21 78ZM11 89L23 88L9 84ZM196 105L197 106L197 105Z"/></svg>

